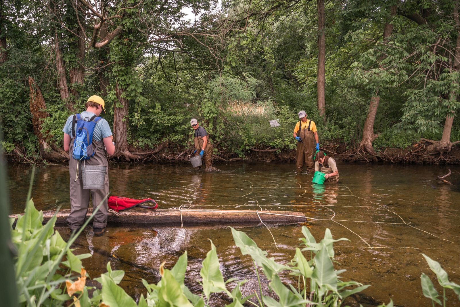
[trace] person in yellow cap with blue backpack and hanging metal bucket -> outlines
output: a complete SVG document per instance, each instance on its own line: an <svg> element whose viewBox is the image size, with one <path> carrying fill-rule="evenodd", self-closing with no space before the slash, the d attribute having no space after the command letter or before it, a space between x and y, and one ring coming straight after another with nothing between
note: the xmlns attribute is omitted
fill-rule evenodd
<svg viewBox="0 0 460 307"><path fill-rule="evenodd" d="M85 104L86 111L67 118L64 125L64 151L69 152L70 175L70 214L67 222L70 230L78 230L86 219L89 207L89 197L95 209L92 227L96 236L104 234L107 226L107 195L109 193L109 164L107 155L115 152L115 143L109 123L99 117L104 110L104 100L99 96L91 96ZM88 144L86 144L88 143ZM98 182L89 185L82 179L83 168L93 166ZM105 170L105 176L104 176ZM101 174L102 173L102 174ZM89 174L89 172L88 172ZM91 178L91 176L88 176Z"/></svg>

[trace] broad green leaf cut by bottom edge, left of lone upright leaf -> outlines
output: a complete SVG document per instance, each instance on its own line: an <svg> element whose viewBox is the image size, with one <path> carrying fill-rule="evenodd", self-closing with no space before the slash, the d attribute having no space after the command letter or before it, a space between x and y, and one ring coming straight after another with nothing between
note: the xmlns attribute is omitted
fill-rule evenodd
<svg viewBox="0 0 460 307"><path fill-rule="evenodd" d="M112 307L110 305L110 307ZM193 307L169 270L163 269L156 307Z"/></svg>

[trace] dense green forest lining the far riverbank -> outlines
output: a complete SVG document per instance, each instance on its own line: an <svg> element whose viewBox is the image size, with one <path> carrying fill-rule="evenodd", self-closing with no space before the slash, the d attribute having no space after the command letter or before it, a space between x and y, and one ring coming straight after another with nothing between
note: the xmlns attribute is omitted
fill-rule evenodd
<svg viewBox="0 0 460 307"><path fill-rule="evenodd" d="M458 0L0 0L1 147L62 159L66 118L98 94L119 160L191 148L192 117L224 160L290 150L299 110L322 145L443 157L459 66Z"/></svg>

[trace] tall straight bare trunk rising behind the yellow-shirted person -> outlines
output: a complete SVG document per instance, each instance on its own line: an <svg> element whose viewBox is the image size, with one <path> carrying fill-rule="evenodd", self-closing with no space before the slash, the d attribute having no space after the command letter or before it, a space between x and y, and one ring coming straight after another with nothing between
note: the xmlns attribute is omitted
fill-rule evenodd
<svg viewBox="0 0 460 307"><path fill-rule="evenodd" d="M324 17L324 0L317 0L318 6L318 111L326 122L326 98L325 98L325 58L326 58L326 33L325 33L325 17Z"/></svg>

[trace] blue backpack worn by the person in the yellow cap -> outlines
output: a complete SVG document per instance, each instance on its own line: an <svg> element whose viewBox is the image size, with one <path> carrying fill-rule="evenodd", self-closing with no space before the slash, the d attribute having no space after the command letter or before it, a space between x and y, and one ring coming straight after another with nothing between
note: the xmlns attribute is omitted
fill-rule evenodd
<svg viewBox="0 0 460 307"><path fill-rule="evenodd" d="M72 151L72 157L75 160L87 160L94 156L94 150L92 148L92 134L94 132L94 127L96 127L96 124L101 119L102 117L94 115L88 122L86 122L83 118L81 118L81 114L74 115L72 120L72 132L74 135L74 150Z"/></svg>

